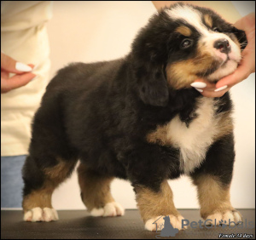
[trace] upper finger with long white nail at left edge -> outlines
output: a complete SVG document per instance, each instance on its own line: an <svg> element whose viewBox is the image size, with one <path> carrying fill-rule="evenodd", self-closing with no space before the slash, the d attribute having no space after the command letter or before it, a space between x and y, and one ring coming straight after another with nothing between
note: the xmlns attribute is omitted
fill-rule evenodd
<svg viewBox="0 0 256 240"><path fill-rule="evenodd" d="M4 71L9 71L18 74L24 71L32 71L31 66L27 66L22 62L16 61L3 53L1 53L1 70L2 69Z"/></svg>

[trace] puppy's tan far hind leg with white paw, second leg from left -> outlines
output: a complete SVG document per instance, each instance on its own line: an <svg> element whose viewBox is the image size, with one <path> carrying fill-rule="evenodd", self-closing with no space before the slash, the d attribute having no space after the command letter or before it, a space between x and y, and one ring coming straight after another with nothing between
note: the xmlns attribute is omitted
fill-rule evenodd
<svg viewBox="0 0 256 240"><path fill-rule="evenodd" d="M79 186L84 205L92 216L122 216L123 207L116 203L110 192L113 177L102 175L80 163Z"/></svg>

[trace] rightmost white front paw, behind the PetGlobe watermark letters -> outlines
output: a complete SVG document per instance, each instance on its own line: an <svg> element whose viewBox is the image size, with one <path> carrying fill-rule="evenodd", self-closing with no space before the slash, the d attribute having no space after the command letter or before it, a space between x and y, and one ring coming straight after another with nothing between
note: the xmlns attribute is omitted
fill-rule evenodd
<svg viewBox="0 0 256 240"><path fill-rule="evenodd" d="M235 226L237 222L241 221L241 214L234 210L234 211L226 211L224 214L216 213L211 214L207 216L207 224L212 224L212 226L224 224L224 225L230 225Z"/></svg>

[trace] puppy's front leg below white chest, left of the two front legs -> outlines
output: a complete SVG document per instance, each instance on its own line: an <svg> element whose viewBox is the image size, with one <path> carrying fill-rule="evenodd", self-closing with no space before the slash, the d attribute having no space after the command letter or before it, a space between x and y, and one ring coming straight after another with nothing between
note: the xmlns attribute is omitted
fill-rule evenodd
<svg viewBox="0 0 256 240"><path fill-rule="evenodd" d="M183 217L172 200L167 179L178 177L177 151L154 144L138 144L127 156L127 176L136 192L137 207L145 228L160 230L164 217L169 216L172 227L181 229Z"/></svg>

